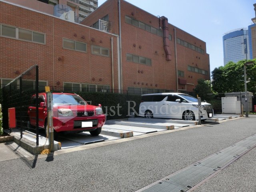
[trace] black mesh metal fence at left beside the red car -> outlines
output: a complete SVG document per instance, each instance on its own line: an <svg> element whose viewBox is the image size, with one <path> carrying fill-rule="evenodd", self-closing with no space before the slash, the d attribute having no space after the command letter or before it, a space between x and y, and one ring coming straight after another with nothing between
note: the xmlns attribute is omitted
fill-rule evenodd
<svg viewBox="0 0 256 192"><path fill-rule="evenodd" d="M16 128L20 129L20 138L22 138L23 130L36 132L36 145L38 145L38 66L34 65L20 74L17 78L2 88L2 111L3 111L3 127L9 128L8 109L15 109L15 118L10 121L15 122ZM34 95L34 102L30 100ZM33 106L35 113L34 126L30 126L28 118L28 106Z"/></svg>

